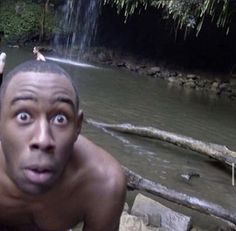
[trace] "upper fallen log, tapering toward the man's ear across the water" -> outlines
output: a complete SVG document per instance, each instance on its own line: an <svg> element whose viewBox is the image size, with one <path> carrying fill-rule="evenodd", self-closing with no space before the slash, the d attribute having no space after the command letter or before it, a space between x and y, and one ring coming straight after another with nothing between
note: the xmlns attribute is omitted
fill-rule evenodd
<svg viewBox="0 0 236 231"><path fill-rule="evenodd" d="M236 164L236 152L229 150L224 145L203 142L191 137L167 132L153 127L138 127L131 124L107 124L92 119L87 119L86 121L96 127L165 141L185 149L208 155L224 164L230 165L231 167L233 163Z"/></svg>

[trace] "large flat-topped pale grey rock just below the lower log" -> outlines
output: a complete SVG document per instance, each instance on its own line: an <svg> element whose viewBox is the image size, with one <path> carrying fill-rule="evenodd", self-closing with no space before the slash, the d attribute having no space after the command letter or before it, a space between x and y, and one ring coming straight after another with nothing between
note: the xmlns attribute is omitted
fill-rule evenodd
<svg viewBox="0 0 236 231"><path fill-rule="evenodd" d="M149 224L166 228L169 231L188 231L191 226L191 218L177 213L157 201L138 194L135 198L131 214L136 216L148 216Z"/></svg>

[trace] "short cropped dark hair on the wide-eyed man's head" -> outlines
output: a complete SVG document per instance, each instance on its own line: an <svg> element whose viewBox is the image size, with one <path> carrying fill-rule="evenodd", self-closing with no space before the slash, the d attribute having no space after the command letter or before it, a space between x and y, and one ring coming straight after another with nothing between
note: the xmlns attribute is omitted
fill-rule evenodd
<svg viewBox="0 0 236 231"><path fill-rule="evenodd" d="M3 82L1 85L1 89L0 89L0 108L2 103L4 102L4 96L5 96L5 92L6 89L9 85L9 83L11 82L12 79L14 79L15 76L17 76L17 74L19 73L24 73L24 72L34 72L34 73L52 73L52 74L58 74L61 76L64 76L65 78L67 78L75 91L76 94L76 106L77 109L79 109L79 94L78 94L78 89L74 83L74 81L72 80L71 76L63 69L61 68L59 65L53 63L53 62L41 62L41 61L27 61L25 63L22 63L18 66L16 66L12 71L10 71L4 78L3 78Z"/></svg>

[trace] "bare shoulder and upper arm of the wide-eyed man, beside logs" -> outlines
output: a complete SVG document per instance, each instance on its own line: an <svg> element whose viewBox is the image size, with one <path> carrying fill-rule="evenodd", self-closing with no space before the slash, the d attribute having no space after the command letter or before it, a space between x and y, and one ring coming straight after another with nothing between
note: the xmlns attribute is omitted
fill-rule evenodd
<svg viewBox="0 0 236 231"><path fill-rule="evenodd" d="M85 230L118 230L126 194L124 171L115 158L85 137L76 144L87 166ZM106 218L106 219L104 219Z"/></svg>

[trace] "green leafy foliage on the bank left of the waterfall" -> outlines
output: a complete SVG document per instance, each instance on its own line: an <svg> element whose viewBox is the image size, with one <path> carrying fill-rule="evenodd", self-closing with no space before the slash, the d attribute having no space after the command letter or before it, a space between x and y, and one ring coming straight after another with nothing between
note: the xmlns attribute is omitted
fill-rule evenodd
<svg viewBox="0 0 236 231"><path fill-rule="evenodd" d="M54 26L53 11L45 12L45 5L39 1L0 2L0 31L9 43L19 44L40 36L45 39L53 32Z"/></svg>

